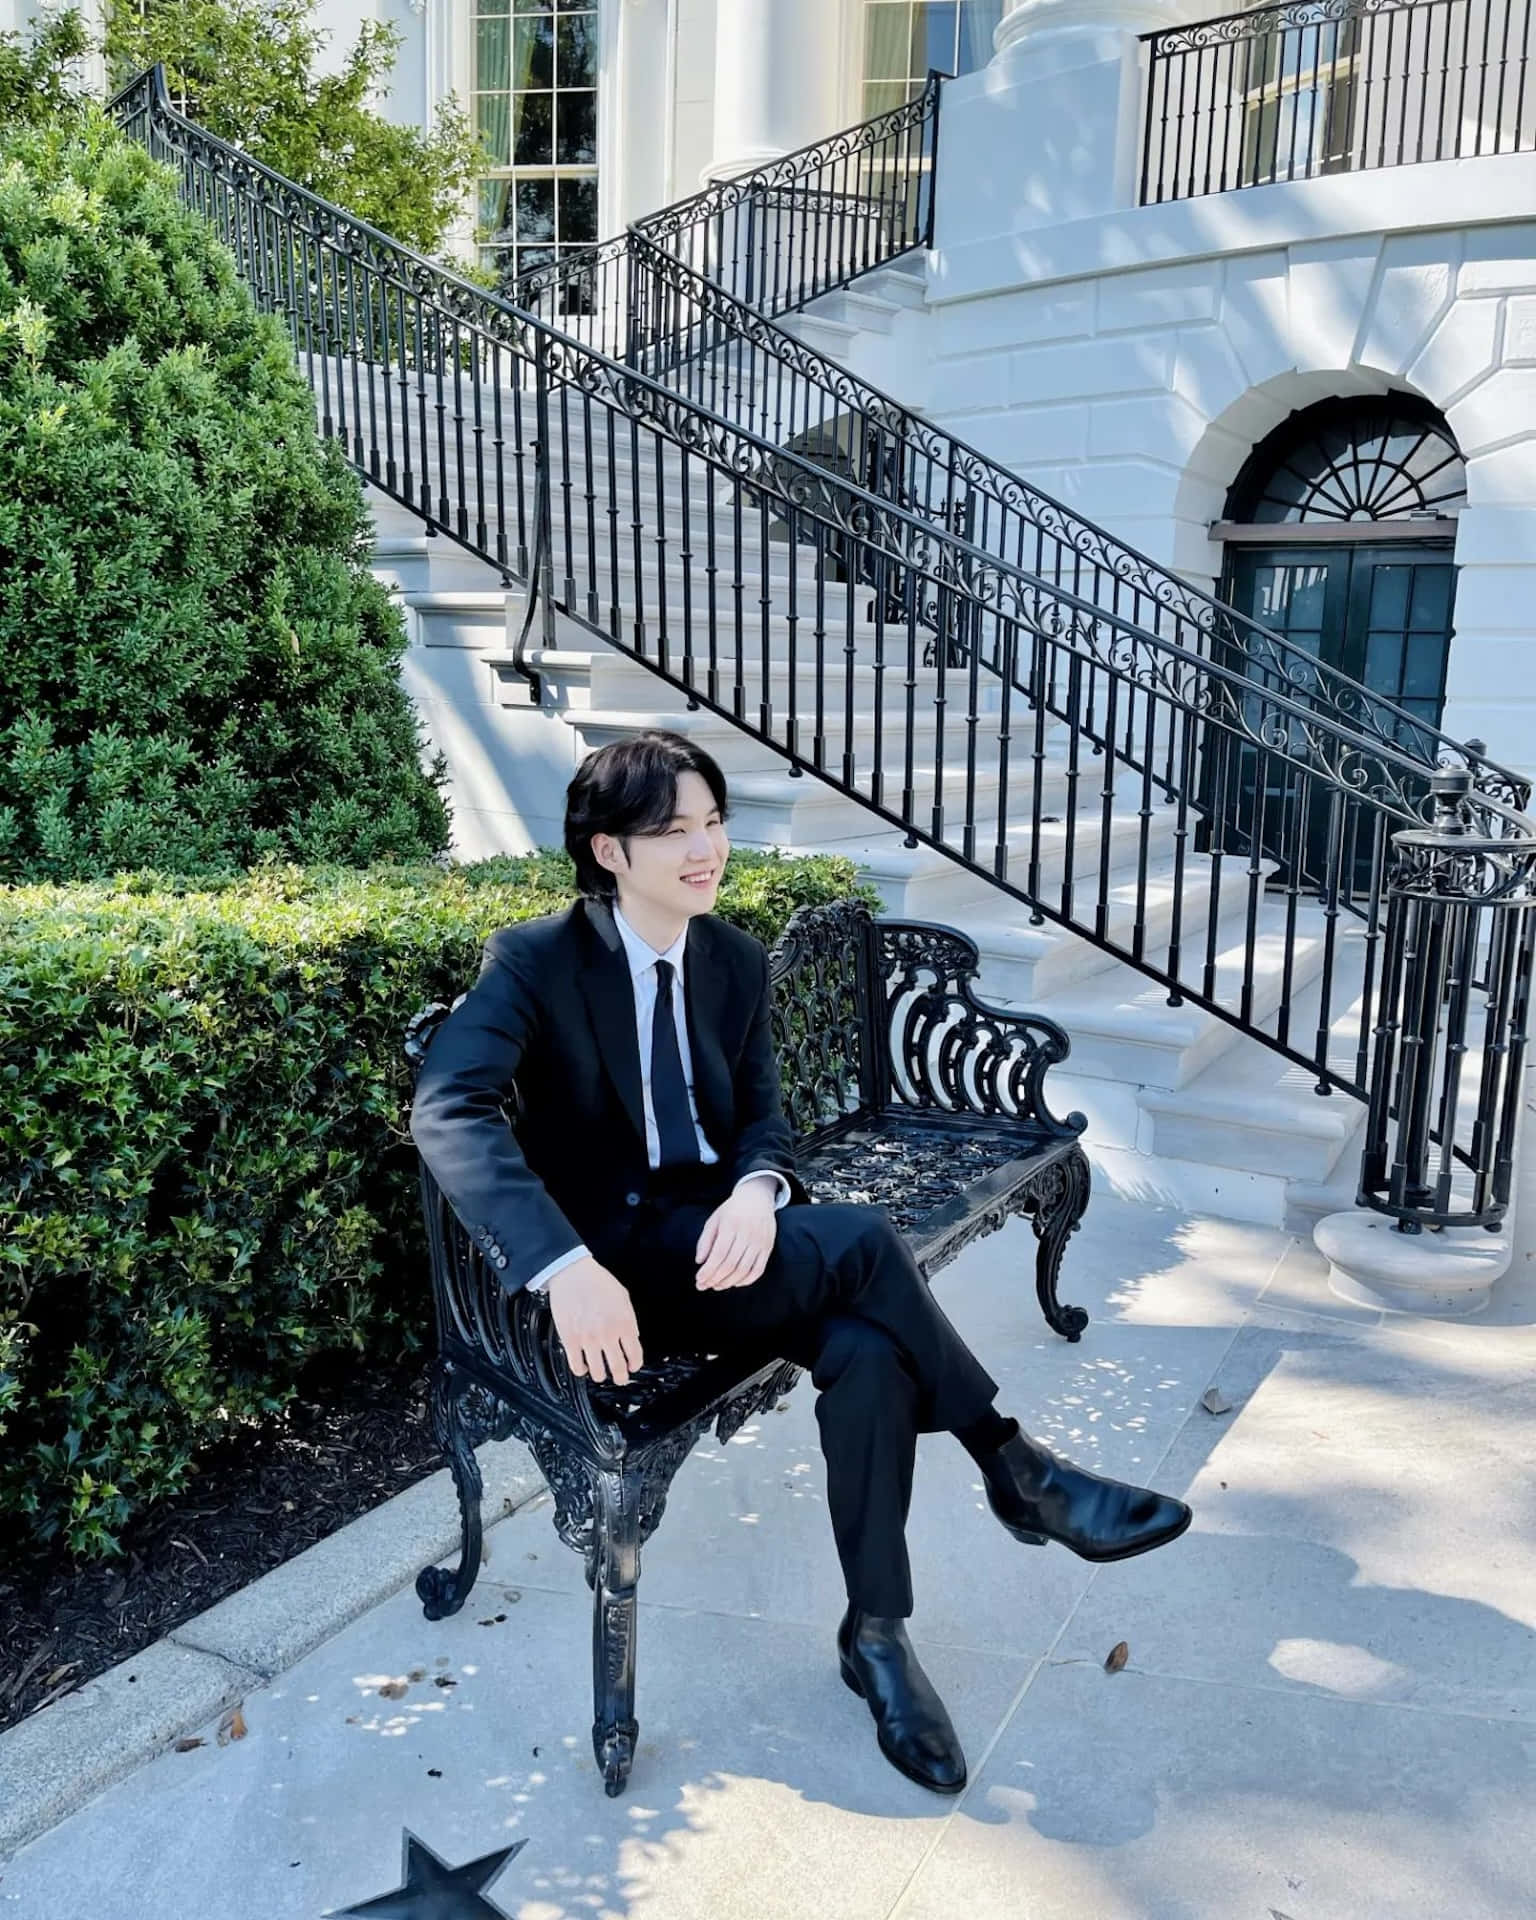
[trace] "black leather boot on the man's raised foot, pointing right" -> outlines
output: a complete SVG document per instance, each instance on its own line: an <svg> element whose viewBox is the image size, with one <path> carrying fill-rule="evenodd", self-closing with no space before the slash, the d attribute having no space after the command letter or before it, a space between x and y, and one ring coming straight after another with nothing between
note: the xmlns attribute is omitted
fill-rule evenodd
<svg viewBox="0 0 1536 1920"><path fill-rule="evenodd" d="M1150 1553L1192 1519L1183 1500L1073 1467L1023 1432L983 1453L977 1467L987 1505L1016 1540L1060 1540L1089 1561Z"/></svg>

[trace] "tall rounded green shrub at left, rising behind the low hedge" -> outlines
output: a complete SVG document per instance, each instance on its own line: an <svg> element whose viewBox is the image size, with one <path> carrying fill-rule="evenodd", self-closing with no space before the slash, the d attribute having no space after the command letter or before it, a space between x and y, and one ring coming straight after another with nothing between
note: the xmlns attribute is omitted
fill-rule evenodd
<svg viewBox="0 0 1536 1920"><path fill-rule="evenodd" d="M447 847L371 538L171 171L0 129L0 879Z"/></svg>

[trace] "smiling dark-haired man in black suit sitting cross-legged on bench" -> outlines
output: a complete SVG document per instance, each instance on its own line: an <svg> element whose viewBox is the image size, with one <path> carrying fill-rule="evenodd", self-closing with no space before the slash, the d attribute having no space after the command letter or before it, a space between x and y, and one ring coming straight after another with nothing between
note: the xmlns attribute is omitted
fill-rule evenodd
<svg viewBox="0 0 1536 1920"><path fill-rule="evenodd" d="M906 1638L920 1432L952 1432L1025 1542L1125 1559L1177 1538L1179 1500L1085 1473L993 1405L987 1375L881 1208L810 1204L770 1039L768 954L710 914L726 781L678 733L588 755L566 795L582 899L501 927L426 1056L411 1133L509 1290L547 1288L570 1365L780 1354L810 1371L849 1590L845 1682L908 1778L966 1759ZM518 1133L501 1102L513 1079Z"/></svg>

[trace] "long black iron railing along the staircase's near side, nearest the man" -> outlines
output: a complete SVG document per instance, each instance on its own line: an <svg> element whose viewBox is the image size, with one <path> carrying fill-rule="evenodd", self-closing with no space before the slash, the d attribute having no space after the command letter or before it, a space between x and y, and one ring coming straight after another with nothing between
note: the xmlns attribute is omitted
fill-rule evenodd
<svg viewBox="0 0 1536 1920"><path fill-rule="evenodd" d="M115 109L288 328L323 430L528 584L509 670L538 676L561 620L599 636L908 845L1367 1098L1382 981L1409 966L1384 952L1388 847L1423 824L1421 755L1133 618L1129 588L1075 591L420 259L175 113L156 73ZM1446 753L1471 828L1523 858L1524 785ZM1436 1108L1463 1183L1507 1165L1511 1021L1475 1110Z"/></svg>

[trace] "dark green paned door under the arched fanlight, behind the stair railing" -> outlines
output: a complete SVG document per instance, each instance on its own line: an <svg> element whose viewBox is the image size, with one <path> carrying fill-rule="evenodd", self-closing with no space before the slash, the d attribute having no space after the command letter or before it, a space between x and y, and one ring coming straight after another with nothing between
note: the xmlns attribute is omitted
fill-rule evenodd
<svg viewBox="0 0 1536 1920"><path fill-rule="evenodd" d="M1455 584L1450 543L1331 541L1233 547L1229 555L1225 599L1402 707L1411 718L1398 724L1398 743L1415 758L1432 760L1430 733L1413 722L1438 728L1446 697ZM1246 670L1265 687L1275 685L1273 672ZM1256 697L1250 722L1260 720L1273 728L1273 708ZM1294 760L1306 758L1308 749L1300 726L1288 732L1288 758L1238 747L1223 753L1219 772L1208 772L1210 803L1221 804L1217 795L1225 795L1223 841L1246 851L1258 833L1265 854L1281 862L1277 881L1292 876L1321 881L1342 858L1354 883L1363 885L1373 849L1352 843L1331 852L1331 789L1321 780L1296 778Z"/></svg>

